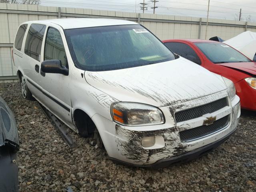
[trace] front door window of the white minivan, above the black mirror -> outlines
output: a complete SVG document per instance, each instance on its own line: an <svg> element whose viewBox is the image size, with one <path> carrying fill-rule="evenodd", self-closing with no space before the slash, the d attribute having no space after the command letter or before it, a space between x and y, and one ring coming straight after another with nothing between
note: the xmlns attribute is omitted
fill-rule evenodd
<svg viewBox="0 0 256 192"><path fill-rule="evenodd" d="M46 35L44 48L44 60L57 59L62 66L66 66L67 57L60 32L55 28L49 28Z"/></svg>

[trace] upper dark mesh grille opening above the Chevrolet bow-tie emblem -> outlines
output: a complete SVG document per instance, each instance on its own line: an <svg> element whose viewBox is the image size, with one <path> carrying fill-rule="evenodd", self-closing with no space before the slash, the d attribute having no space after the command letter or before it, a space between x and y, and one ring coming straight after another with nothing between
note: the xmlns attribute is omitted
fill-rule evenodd
<svg viewBox="0 0 256 192"><path fill-rule="evenodd" d="M204 114L212 113L217 110L220 110L221 108L224 108L225 106L228 106L227 98L222 98L219 100L216 100L214 102L210 102L198 107L190 108L187 110L179 111L175 113L175 119L176 122L182 122L194 118L198 118Z"/></svg>

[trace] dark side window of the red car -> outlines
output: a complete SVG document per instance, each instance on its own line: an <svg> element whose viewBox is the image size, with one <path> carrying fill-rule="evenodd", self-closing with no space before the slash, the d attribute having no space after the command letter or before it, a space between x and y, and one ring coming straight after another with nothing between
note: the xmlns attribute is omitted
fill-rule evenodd
<svg viewBox="0 0 256 192"><path fill-rule="evenodd" d="M165 45L172 50L172 52L194 62L197 64L201 64L201 60L196 54L196 52L187 44L178 43L178 42L167 42Z"/></svg>

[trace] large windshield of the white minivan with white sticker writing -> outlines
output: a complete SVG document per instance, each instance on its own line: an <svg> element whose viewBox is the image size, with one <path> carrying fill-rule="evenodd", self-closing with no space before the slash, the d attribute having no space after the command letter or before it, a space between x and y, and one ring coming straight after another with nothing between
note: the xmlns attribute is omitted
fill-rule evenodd
<svg viewBox="0 0 256 192"><path fill-rule="evenodd" d="M174 54L140 25L68 29L66 38L76 67L105 71L174 60Z"/></svg>

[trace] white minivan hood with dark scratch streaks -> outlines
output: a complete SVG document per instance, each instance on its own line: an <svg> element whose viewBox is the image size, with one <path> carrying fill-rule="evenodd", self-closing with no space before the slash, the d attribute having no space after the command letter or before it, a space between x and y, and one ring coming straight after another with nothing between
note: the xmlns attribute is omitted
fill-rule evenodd
<svg viewBox="0 0 256 192"><path fill-rule="evenodd" d="M220 76L185 58L112 71L84 73L86 81L119 101L169 106L226 89Z"/></svg>

